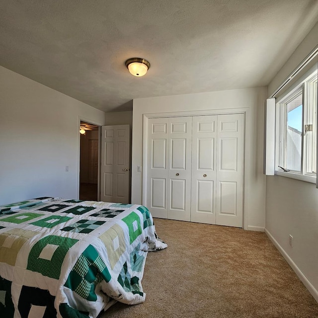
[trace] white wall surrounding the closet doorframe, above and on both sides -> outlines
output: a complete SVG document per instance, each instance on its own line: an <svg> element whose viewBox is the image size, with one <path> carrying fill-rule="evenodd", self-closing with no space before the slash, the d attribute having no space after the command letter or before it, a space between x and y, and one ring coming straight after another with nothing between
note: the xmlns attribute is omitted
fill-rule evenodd
<svg viewBox="0 0 318 318"><path fill-rule="evenodd" d="M142 203L143 114L246 109L244 229L265 226L263 175L263 118L266 88L248 88L197 94L140 98L133 101L132 203Z"/></svg>

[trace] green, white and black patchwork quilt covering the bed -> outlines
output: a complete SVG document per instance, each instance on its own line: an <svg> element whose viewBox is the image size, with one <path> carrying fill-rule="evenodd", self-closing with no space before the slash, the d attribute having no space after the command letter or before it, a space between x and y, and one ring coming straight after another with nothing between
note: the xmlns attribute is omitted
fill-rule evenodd
<svg viewBox="0 0 318 318"><path fill-rule="evenodd" d="M140 205L37 198L0 207L0 316L95 318L145 301L148 251L165 248Z"/></svg>

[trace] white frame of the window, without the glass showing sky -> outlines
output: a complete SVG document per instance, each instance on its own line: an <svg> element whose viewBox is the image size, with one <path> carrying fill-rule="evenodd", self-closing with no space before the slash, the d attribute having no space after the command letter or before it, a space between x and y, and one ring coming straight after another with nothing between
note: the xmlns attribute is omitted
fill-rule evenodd
<svg viewBox="0 0 318 318"><path fill-rule="evenodd" d="M311 70L306 74L306 77L300 79L293 87L276 98L275 175L316 183L317 78L317 71ZM287 168L287 104L300 94L302 94L301 171L297 171ZM312 125L312 130L305 132L305 125L306 129L309 129L308 125ZM278 165L288 171L279 168ZM310 167L314 169L312 172Z"/></svg>

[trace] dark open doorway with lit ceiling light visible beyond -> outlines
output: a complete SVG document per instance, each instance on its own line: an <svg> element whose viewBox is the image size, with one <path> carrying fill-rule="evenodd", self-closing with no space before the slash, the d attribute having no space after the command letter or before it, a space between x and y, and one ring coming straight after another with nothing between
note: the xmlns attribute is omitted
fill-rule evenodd
<svg viewBox="0 0 318 318"><path fill-rule="evenodd" d="M80 121L79 199L98 200L99 126Z"/></svg>

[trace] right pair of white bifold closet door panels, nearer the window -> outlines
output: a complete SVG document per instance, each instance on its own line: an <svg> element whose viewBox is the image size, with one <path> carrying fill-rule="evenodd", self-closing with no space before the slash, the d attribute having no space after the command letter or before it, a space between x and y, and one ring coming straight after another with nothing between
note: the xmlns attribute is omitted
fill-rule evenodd
<svg viewBox="0 0 318 318"><path fill-rule="evenodd" d="M191 222L242 227L244 115L193 117Z"/></svg>

